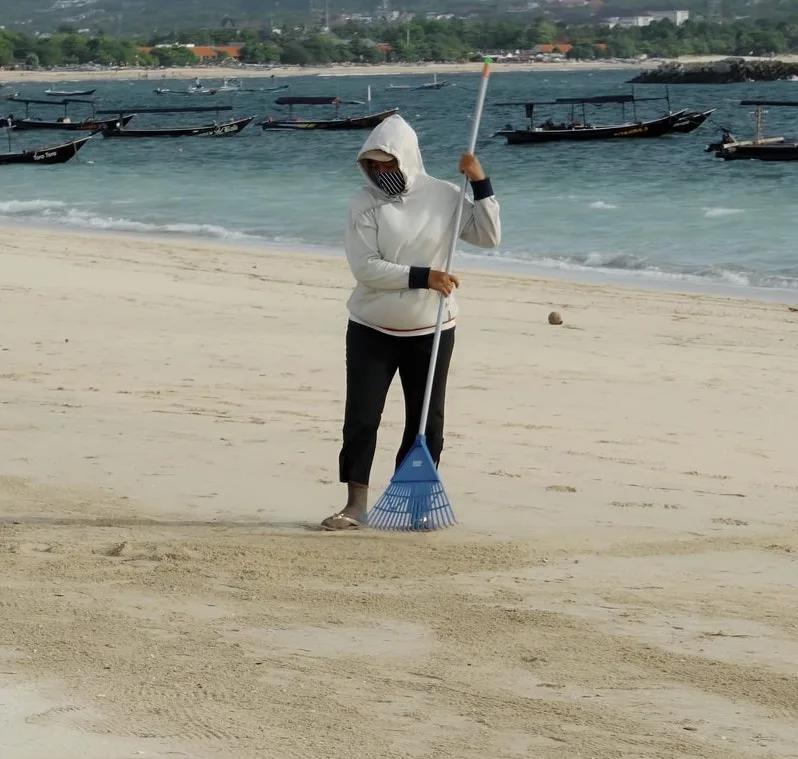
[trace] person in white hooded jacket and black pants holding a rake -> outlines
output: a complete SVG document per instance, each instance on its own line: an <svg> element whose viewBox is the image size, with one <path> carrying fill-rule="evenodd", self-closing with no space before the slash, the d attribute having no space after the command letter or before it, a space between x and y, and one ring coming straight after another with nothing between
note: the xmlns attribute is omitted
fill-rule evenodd
<svg viewBox="0 0 798 759"><path fill-rule="evenodd" d="M443 450L446 378L454 348L460 280L444 271L460 188L426 173L418 138L399 115L369 135L357 157L366 186L352 200L346 258L357 281L347 302L346 409L339 476L348 498L321 524L327 530L360 527L377 430L396 372L405 398L405 431L398 467L418 434L440 294L447 297L426 437L437 466ZM468 176L460 238L482 248L498 245L499 204L476 156L465 153Z"/></svg>

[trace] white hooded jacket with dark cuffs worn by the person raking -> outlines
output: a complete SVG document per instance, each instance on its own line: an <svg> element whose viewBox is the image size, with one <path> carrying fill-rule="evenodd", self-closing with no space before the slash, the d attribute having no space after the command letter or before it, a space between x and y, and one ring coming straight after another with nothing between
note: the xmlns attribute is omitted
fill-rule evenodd
<svg viewBox="0 0 798 759"><path fill-rule="evenodd" d="M394 156L405 178L404 192L390 196L369 177L363 154L382 150ZM418 138L399 115L380 123L358 153L366 186L352 200L346 230L346 258L357 285L347 307L350 318L389 334L419 335L434 331L440 294L426 289L426 272L411 276L411 267L446 266L460 188L424 170ZM490 180L472 183L476 200L467 197L460 238L481 248L499 244L499 203ZM415 281L414 281L415 279ZM411 287L415 284L415 287ZM450 295L444 327L454 326L457 303Z"/></svg>

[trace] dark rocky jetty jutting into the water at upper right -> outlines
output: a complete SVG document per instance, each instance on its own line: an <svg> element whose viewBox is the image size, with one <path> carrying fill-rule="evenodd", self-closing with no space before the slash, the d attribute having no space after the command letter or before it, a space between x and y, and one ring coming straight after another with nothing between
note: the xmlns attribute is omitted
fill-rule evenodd
<svg viewBox="0 0 798 759"><path fill-rule="evenodd" d="M798 63L778 60L724 58L712 63L663 63L656 69L640 72L631 84L733 84L735 82L773 82L798 78Z"/></svg>

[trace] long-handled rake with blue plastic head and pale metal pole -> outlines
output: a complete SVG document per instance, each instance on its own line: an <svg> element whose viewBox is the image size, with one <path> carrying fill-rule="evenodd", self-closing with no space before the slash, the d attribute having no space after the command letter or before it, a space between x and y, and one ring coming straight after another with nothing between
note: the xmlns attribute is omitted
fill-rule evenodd
<svg viewBox="0 0 798 759"><path fill-rule="evenodd" d="M488 89L488 76L490 75L491 59L485 59L482 67L477 105L471 124L471 138L468 152L473 153L477 144L479 122L482 119L482 107L485 104L485 93ZM463 186L460 191L460 201L455 213L452 244L446 259L446 271L451 271L452 259L459 237L458 230L463 218L463 204L465 201L468 177L463 177ZM432 397L432 384L435 378L435 365L438 361L438 349L441 341L441 325L443 324L443 307L446 296L441 293L438 304L438 320L435 324L435 334L432 340L432 353L430 355L427 384L424 390L424 402L421 408L421 422L418 435L413 447L408 451L402 463L394 472L391 482L374 504L366 517L366 524L377 530L439 530L455 524L454 511L446 495L443 482L438 475L432 454L427 447L427 417L429 416L430 399Z"/></svg>

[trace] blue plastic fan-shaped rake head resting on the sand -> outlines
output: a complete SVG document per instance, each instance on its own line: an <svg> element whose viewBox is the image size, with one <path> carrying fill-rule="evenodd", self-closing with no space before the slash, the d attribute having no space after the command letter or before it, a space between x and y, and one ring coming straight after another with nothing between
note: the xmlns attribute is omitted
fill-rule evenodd
<svg viewBox="0 0 798 759"><path fill-rule="evenodd" d="M456 522L427 441L419 435L368 513L366 524L377 530L424 532Z"/></svg>

